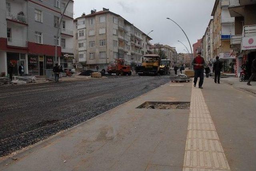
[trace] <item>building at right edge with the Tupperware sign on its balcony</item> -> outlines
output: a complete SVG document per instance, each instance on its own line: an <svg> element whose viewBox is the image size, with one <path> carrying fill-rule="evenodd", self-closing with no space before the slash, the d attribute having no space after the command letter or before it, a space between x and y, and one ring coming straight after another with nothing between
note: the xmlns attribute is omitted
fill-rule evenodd
<svg viewBox="0 0 256 171"><path fill-rule="evenodd" d="M256 0L230 0L229 13L235 18L235 34L231 36L232 55L236 58L235 73L241 66L250 66L256 58Z"/></svg>

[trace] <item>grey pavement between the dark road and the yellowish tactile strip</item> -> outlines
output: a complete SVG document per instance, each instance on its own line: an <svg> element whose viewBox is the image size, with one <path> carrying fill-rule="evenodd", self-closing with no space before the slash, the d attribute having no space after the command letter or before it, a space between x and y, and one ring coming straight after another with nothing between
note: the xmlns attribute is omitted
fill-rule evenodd
<svg viewBox="0 0 256 171"><path fill-rule="evenodd" d="M162 85L3 161L0 170L181 171L189 110L136 107L146 101L190 101L191 85Z"/></svg>

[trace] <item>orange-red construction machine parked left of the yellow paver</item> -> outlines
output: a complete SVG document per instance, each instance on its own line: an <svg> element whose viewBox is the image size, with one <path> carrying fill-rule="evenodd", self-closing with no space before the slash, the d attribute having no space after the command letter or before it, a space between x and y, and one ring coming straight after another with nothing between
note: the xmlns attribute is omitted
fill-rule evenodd
<svg viewBox="0 0 256 171"><path fill-rule="evenodd" d="M130 76L132 75L132 70L130 65L126 65L123 59L115 59L115 62L109 64L107 69L108 75L116 73L117 76Z"/></svg>

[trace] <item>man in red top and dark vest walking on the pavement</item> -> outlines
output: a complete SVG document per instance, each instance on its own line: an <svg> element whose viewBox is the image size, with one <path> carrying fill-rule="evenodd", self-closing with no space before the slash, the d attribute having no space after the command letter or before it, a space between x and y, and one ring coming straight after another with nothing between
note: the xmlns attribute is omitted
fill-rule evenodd
<svg viewBox="0 0 256 171"><path fill-rule="evenodd" d="M196 82L198 77L200 78L199 83L198 83L198 88L203 88L203 82L204 82L204 66L205 66L205 62L204 62L204 58L202 58L201 56L201 52L197 53L196 58L194 58L193 62L192 62L192 66L194 66L194 87L196 87Z"/></svg>

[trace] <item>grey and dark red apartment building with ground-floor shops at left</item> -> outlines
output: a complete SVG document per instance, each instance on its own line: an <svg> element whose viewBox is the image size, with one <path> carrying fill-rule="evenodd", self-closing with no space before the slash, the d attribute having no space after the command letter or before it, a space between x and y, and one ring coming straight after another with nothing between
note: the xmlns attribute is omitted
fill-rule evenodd
<svg viewBox="0 0 256 171"><path fill-rule="evenodd" d="M72 56L73 1L68 4L57 29L64 4L68 0L1 0L0 1L0 72L8 74L7 66L12 62L14 75L18 66L26 74L45 75L55 62L66 67L65 56ZM58 40L57 60L55 42ZM61 48L61 46L63 48Z"/></svg>

